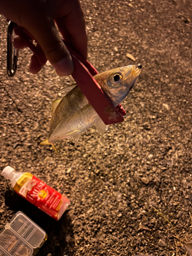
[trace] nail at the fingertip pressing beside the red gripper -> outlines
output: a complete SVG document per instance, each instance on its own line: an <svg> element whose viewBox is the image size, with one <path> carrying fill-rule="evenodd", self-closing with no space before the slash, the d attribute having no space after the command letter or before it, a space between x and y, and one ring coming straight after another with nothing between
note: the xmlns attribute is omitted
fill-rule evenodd
<svg viewBox="0 0 192 256"><path fill-rule="evenodd" d="M73 61L68 57L52 63L52 66L59 76L69 76L74 71Z"/></svg>

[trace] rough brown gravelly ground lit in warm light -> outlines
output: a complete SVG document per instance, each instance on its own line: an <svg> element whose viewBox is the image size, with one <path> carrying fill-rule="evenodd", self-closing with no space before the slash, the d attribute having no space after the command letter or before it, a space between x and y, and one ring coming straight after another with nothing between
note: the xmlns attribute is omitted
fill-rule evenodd
<svg viewBox="0 0 192 256"><path fill-rule="evenodd" d="M1 169L9 164L31 172L65 193L71 205L56 222L0 176L0 228L24 211L48 233L38 256L184 255L183 245L192 239L191 1L85 0L82 7L89 60L99 72L143 66L123 102L126 119L102 139L92 127L76 145L58 142L59 155L40 146L48 136L51 102L72 79L59 78L50 65L30 74L27 49L8 78L1 16Z"/></svg>

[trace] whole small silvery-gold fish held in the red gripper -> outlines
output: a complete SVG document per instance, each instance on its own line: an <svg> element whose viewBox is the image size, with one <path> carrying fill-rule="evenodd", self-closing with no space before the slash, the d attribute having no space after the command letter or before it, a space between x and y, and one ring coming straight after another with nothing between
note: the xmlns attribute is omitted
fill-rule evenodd
<svg viewBox="0 0 192 256"><path fill-rule="evenodd" d="M140 64L129 65L102 72L94 78L116 107L133 88L141 73L141 68ZM62 99L52 102L48 139L40 142L40 145L52 145L55 151L53 144L55 141L72 137L76 144L81 133L87 132L92 125L96 126L101 136L108 129L108 125L104 124L76 83L63 90L65 95Z"/></svg>

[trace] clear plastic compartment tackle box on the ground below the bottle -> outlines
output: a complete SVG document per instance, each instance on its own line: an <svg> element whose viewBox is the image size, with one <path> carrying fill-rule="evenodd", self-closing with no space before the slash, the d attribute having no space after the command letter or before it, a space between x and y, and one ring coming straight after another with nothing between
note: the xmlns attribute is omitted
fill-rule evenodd
<svg viewBox="0 0 192 256"><path fill-rule="evenodd" d="M46 232L22 211L17 211L0 230L0 256L35 255L46 240Z"/></svg>

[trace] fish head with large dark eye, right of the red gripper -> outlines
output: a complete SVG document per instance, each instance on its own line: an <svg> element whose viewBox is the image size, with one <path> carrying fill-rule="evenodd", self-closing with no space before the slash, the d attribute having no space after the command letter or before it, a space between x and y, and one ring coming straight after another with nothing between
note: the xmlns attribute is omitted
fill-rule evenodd
<svg viewBox="0 0 192 256"><path fill-rule="evenodd" d="M100 73L95 76L95 79L109 96L114 106L117 106L133 88L141 73L141 68L140 64L129 65Z"/></svg>

